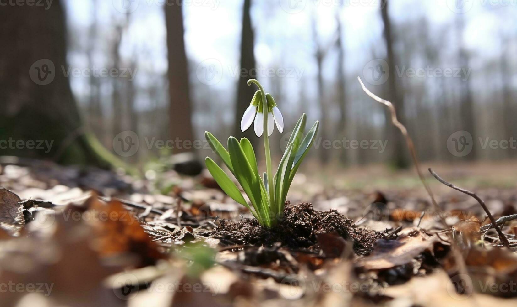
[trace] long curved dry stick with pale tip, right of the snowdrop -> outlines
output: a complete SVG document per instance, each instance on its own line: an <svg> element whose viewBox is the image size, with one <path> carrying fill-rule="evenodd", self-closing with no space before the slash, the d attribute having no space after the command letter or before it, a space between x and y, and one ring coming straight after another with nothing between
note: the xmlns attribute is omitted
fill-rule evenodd
<svg viewBox="0 0 517 307"><path fill-rule="evenodd" d="M449 228L449 226L445 222L445 218L443 216L442 209L440 209L440 207L438 206L438 203L434 199L433 191L428 186L427 182L425 181L425 177L423 176L422 172L420 171L420 164L418 163L415 145L413 144L413 140L407 133L406 127L401 122L399 122L399 120L397 119L397 112L395 111L395 107L393 106L393 104L391 102L384 100L384 99L380 98L379 96L375 95L374 93L370 92L366 88L366 86L364 86L364 83L362 83L361 78L357 77L357 79L359 80L359 83L361 84L362 90L367 95L369 95L375 101L384 104L390 110L391 123L393 123L393 125L395 125L397 128L399 128L400 132L402 132L402 135L404 135L404 138L406 139L407 147L409 148L409 153L411 154L411 157L413 158L413 162L415 163L415 168L417 170L418 177L420 177L420 181L422 182L423 186L425 187L425 190L427 191L427 193L429 194L429 197L431 198L431 202L433 203L434 211L436 211L438 213L438 216L440 217L440 221L442 222L444 227L446 229Z"/></svg>

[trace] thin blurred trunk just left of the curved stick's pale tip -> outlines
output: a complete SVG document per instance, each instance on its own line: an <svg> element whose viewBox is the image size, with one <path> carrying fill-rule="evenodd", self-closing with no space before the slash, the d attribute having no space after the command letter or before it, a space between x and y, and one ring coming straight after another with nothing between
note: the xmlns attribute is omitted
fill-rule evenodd
<svg viewBox="0 0 517 307"><path fill-rule="evenodd" d="M346 127L346 92L345 92L345 50L343 46L343 25L339 13L341 10L336 12L336 23L337 28L337 40L336 48L338 50L338 106L339 106L339 121L338 121L338 133L341 137L345 137ZM342 162L346 161L346 151L341 150L340 159Z"/></svg>

